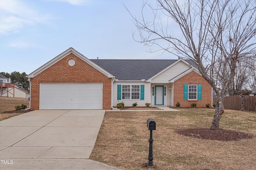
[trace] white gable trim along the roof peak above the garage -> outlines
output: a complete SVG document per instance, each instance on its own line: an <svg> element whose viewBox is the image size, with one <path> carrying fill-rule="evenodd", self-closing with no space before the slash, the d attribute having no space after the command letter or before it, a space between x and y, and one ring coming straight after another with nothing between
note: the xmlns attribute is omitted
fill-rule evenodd
<svg viewBox="0 0 256 170"><path fill-rule="evenodd" d="M28 78L34 78L34 76L38 75L39 73L41 73L42 71L46 70L47 68L49 68L50 66L52 66L53 64L57 63L58 61L60 61L61 59L64 59L65 57L67 57L68 55L70 55L70 53L73 53L74 55L76 55L77 57L79 57L80 59L82 59L84 62L88 63L90 66L96 68L98 71L100 71L102 74L108 76L108 78L114 78L114 76L112 74L110 74L109 72L107 72L106 70L104 70L103 68L101 68L100 66L98 66L97 64L93 63L92 61L90 61L89 59L87 59L86 57L84 57L84 55L82 55L81 53L79 53L78 51L76 51L75 49L73 49L72 47L70 47L69 49L67 49L66 51L64 51L63 53L61 53L60 55L58 55L57 57L55 57L54 59L52 59L51 61L49 61L48 63L44 64L43 66L41 66L40 68L36 69L34 72L28 74Z"/></svg>

